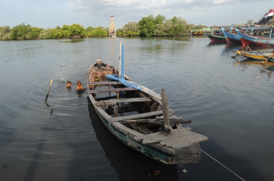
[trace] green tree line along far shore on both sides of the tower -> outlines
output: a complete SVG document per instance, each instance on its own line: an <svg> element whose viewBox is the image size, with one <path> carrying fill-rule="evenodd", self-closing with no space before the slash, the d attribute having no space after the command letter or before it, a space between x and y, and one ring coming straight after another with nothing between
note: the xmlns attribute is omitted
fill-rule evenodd
<svg viewBox="0 0 274 181"><path fill-rule="evenodd" d="M199 25L198 25L199 26ZM140 21L131 21L122 28L116 30L117 36L184 36L192 29L197 28L194 24L188 23L181 17L174 16L166 19L158 14L154 17L150 14ZM109 35L109 27L87 27L79 24L66 25L55 28L33 27L25 23L10 28L0 26L0 40L31 40L31 39L58 39L58 38L83 38L83 37L106 37Z"/></svg>

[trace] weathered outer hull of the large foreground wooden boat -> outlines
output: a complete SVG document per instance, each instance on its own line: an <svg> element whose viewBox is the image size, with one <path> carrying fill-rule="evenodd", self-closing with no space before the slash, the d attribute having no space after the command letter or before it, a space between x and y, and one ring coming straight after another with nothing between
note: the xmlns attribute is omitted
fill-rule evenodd
<svg viewBox="0 0 274 181"><path fill-rule="evenodd" d="M104 63L106 64L106 63ZM110 66L110 65L108 65ZM116 68L111 67L117 71ZM89 72L92 69L90 67L88 74L87 74L87 87L89 87ZM92 72L92 71L91 71ZM127 79L126 75L124 75ZM146 87L145 87L146 88ZM146 88L147 91L153 92ZM155 92L153 92L156 94ZM150 93L149 95L153 95ZM101 122L107 127L107 129L123 144L127 145L128 147L144 154L145 156L162 162L164 164L193 164L198 163L201 156L201 149L200 144L198 142L189 143L189 144L182 144L180 146L175 146L173 148L165 147L160 143L148 143L142 144L142 140L135 140L134 137L136 136L143 136L143 134L136 132L132 129L125 127L123 124L119 122L114 122L111 115L106 113L104 109L100 106L96 105L96 100L92 96L92 94L88 94L90 101L99 116ZM160 99L154 97L155 100L160 102ZM180 127L179 127L180 126ZM182 128L181 124L178 124L179 128Z"/></svg>

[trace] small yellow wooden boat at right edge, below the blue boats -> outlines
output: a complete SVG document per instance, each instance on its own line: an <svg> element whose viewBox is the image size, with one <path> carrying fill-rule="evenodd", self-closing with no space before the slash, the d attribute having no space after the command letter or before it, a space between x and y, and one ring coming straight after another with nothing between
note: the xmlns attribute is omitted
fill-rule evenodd
<svg viewBox="0 0 274 181"><path fill-rule="evenodd" d="M239 55L245 56L247 58L258 59L260 61L267 60L270 62L274 62L274 59L273 59L274 50L273 49L265 49L265 50L259 50L259 51L247 51L248 48L249 47L247 47L244 51L237 51L237 53Z"/></svg>

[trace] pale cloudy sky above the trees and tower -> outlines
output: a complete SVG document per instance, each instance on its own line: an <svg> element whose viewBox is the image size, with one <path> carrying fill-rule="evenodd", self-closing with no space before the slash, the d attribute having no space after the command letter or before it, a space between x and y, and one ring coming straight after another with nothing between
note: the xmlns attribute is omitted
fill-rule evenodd
<svg viewBox="0 0 274 181"><path fill-rule="evenodd" d="M110 27L114 16L115 28L129 21L158 14L171 19L182 17L195 25L227 26L258 21L270 9L274 0L0 0L0 26L21 23L35 27L55 28L57 25L78 23Z"/></svg>

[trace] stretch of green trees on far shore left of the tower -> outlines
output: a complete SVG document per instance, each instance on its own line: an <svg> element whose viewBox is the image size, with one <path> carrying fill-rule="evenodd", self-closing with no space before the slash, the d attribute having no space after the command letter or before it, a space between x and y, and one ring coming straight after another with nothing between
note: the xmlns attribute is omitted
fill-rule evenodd
<svg viewBox="0 0 274 181"><path fill-rule="evenodd" d="M108 27L87 27L79 24L66 25L55 28L33 27L25 23L10 28L0 26L0 40L33 40L33 39L57 39L57 38L83 38L83 37L106 37L109 34Z"/></svg>

